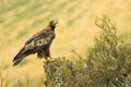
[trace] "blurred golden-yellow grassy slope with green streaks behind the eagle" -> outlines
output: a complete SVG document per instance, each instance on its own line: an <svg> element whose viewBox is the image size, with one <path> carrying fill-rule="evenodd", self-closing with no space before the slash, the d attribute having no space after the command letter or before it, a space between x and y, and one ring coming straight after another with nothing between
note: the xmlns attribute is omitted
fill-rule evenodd
<svg viewBox="0 0 131 87"><path fill-rule="evenodd" d="M27 57L19 66L12 66L12 59L24 42L43 29L50 20L58 20L57 37L51 45L52 57L80 54L91 47L99 29L95 18L106 14L117 23L118 35L131 34L130 0L1 0L0 1L0 71L12 82L28 76L38 85L43 78L43 61L36 54ZM13 84L14 83L14 84ZM36 87L34 85L34 87ZM32 86L33 87L33 86Z"/></svg>

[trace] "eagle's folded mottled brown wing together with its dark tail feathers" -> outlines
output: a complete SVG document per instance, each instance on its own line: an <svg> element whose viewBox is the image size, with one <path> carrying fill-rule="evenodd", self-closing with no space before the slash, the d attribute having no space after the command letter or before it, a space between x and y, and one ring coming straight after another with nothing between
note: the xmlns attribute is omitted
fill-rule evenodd
<svg viewBox="0 0 131 87"><path fill-rule="evenodd" d="M13 65L19 64L25 57L43 49L48 44L50 44L51 40L52 38L50 37L49 33L47 33L46 30L43 33L37 33L25 42L25 46L15 55L15 58L13 59L14 62Z"/></svg>

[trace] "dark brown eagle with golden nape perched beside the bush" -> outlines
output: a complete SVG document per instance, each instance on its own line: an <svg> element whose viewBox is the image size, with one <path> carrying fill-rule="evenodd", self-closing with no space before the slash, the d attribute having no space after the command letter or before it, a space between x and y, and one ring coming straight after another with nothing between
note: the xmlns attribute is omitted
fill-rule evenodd
<svg viewBox="0 0 131 87"><path fill-rule="evenodd" d="M48 61L50 55L50 45L56 37L55 28L58 24L52 20L40 32L32 36L20 50L20 52L13 59L13 65L17 65L25 57L37 53L37 58L45 58Z"/></svg>

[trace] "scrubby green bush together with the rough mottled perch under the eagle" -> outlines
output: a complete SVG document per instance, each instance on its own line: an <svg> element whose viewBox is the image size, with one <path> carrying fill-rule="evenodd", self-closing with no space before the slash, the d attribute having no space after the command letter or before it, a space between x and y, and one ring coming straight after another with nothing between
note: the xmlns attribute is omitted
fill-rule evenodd
<svg viewBox="0 0 131 87"><path fill-rule="evenodd" d="M118 37L107 16L95 24L102 34L86 58L72 50L78 61L59 58L45 64L46 87L131 87L131 37Z"/></svg>

